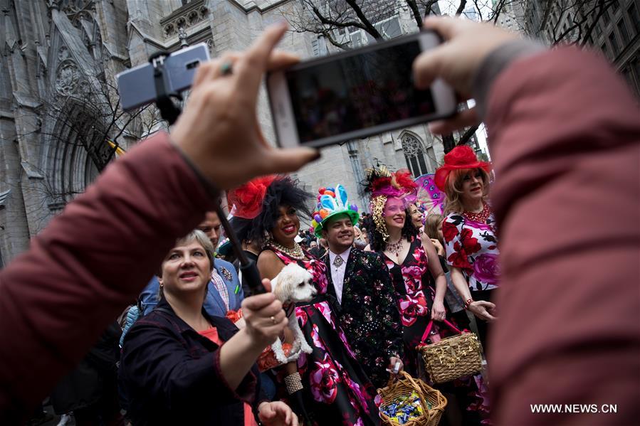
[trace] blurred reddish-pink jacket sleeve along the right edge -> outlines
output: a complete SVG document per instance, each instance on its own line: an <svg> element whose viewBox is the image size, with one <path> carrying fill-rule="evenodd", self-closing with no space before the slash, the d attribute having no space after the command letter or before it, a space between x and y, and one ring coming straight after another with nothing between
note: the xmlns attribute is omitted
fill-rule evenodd
<svg viewBox="0 0 640 426"><path fill-rule="evenodd" d="M498 425L640 417L640 110L603 58L557 48L495 80L487 127L500 230ZM533 412L616 404L616 414Z"/></svg>

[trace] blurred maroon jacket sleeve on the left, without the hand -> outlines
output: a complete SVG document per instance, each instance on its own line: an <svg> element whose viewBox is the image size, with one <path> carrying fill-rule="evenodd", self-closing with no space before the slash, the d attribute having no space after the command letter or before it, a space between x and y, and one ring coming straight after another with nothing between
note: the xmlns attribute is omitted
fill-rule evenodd
<svg viewBox="0 0 640 426"><path fill-rule="evenodd" d="M0 423L19 422L214 208L167 134L117 159L0 272Z"/></svg>

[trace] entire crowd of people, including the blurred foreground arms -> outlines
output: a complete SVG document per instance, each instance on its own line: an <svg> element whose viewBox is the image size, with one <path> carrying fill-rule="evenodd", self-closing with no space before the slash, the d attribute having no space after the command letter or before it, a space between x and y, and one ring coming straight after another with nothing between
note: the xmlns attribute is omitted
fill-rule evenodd
<svg viewBox="0 0 640 426"><path fill-rule="evenodd" d="M399 370L429 382L416 346L450 336L446 324L478 334L491 383L431 383L448 399L442 424L637 420L637 104L593 53L425 25L446 42L416 60L416 85L442 78L477 102L432 131L484 119L495 182L461 146L436 171L442 215L423 215L406 171L367 171L367 215L340 184L303 191L286 173L318 152L271 147L247 114L263 73L297 60L274 50L286 31L274 26L201 65L171 136L115 161L0 272L0 422L23 422L110 353L110 385L59 405L82 412L77 424L379 425L377 389ZM296 265L310 299L253 294L231 252L216 253L223 189L264 287ZM614 220L594 208L604 196ZM274 364L273 341L295 343L290 318L310 351L291 344L296 357ZM617 412L531 409L542 403Z"/></svg>

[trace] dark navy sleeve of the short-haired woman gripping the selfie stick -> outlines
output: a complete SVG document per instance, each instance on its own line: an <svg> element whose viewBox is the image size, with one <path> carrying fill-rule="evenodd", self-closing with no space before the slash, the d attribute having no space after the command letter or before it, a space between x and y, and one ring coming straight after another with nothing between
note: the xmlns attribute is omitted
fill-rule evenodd
<svg viewBox="0 0 640 426"><path fill-rule="evenodd" d="M256 376L250 371L236 390L220 369L220 348L192 357L174 332L141 319L132 327L122 349L122 377L172 410L197 405L228 405L256 398Z"/></svg>

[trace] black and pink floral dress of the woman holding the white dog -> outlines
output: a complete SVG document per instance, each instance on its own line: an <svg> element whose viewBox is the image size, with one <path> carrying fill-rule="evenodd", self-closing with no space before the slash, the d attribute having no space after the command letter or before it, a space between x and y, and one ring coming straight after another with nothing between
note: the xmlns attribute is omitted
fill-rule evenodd
<svg viewBox="0 0 640 426"><path fill-rule="evenodd" d="M379 425L374 403L376 390L347 343L327 301L327 270L324 262L305 252L310 260L295 260L270 247L285 265L295 262L313 275L318 290L311 302L296 304L295 316L313 352L301 353L305 410L315 425Z"/></svg>

